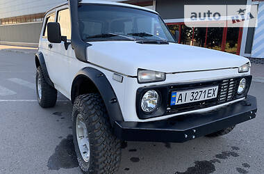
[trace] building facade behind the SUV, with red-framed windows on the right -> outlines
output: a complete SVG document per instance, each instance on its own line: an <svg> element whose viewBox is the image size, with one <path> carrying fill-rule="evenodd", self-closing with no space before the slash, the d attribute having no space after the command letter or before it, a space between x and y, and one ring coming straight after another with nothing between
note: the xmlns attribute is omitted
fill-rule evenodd
<svg viewBox="0 0 264 174"><path fill-rule="evenodd" d="M66 0L0 0L0 44L38 45L44 13ZM115 0L108 0L115 1ZM120 0L122 1L122 0ZM264 2L254 0L129 0L122 1L158 11L179 43L207 47L263 62ZM184 5L258 5L257 28L206 27L184 24Z"/></svg>

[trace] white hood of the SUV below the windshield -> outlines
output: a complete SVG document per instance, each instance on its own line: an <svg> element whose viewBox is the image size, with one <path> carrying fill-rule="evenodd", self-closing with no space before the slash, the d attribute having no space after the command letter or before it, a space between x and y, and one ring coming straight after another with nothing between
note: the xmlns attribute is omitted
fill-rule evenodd
<svg viewBox="0 0 264 174"><path fill-rule="evenodd" d="M176 43L151 45L133 41L106 41L90 44L90 63L129 76L136 76L139 68L172 73L238 68L249 62L242 56Z"/></svg>

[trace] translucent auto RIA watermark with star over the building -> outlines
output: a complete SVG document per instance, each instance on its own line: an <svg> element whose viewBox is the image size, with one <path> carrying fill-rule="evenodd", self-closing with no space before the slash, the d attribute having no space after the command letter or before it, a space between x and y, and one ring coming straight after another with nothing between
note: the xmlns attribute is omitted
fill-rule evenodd
<svg viewBox="0 0 264 174"><path fill-rule="evenodd" d="M258 6L184 6L184 22L189 27L256 27Z"/></svg>

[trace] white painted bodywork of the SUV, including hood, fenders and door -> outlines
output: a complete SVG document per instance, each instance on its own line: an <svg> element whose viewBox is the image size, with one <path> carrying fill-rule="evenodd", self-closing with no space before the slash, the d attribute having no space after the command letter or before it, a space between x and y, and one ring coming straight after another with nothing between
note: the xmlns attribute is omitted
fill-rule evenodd
<svg viewBox="0 0 264 174"><path fill-rule="evenodd" d="M88 61L92 64L79 61L71 45L65 50L63 42L53 44L53 48L50 49L47 46L49 41L42 37L40 37L39 52L44 54L49 77L55 88L69 99L71 99L72 82L81 69L92 67L103 72L115 90L125 121L163 120L186 113L210 111L232 103L140 120L135 109L135 98L136 91L143 86L211 81L250 74L250 72L238 73L238 67L249 62L247 58L201 47L174 43L142 45L134 41L90 42L90 44L92 46L87 48L87 53ZM137 78L130 77L137 75L138 68L167 72L167 78L158 83L138 84ZM122 83L113 80L114 72L124 74ZM171 72L178 73L172 74Z"/></svg>

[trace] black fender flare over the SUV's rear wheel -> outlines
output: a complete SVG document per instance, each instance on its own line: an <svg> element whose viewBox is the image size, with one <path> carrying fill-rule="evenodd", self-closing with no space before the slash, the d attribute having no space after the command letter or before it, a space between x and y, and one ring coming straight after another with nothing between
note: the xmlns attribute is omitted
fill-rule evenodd
<svg viewBox="0 0 264 174"><path fill-rule="evenodd" d="M37 54L35 54L35 67L38 68L38 66L40 66L40 68L42 70L42 73L44 75L44 79L47 81L47 83L50 86L52 86L54 88L54 84L51 81L51 79L49 78L49 73L48 73L47 66L46 66L42 52L38 52Z"/></svg>

